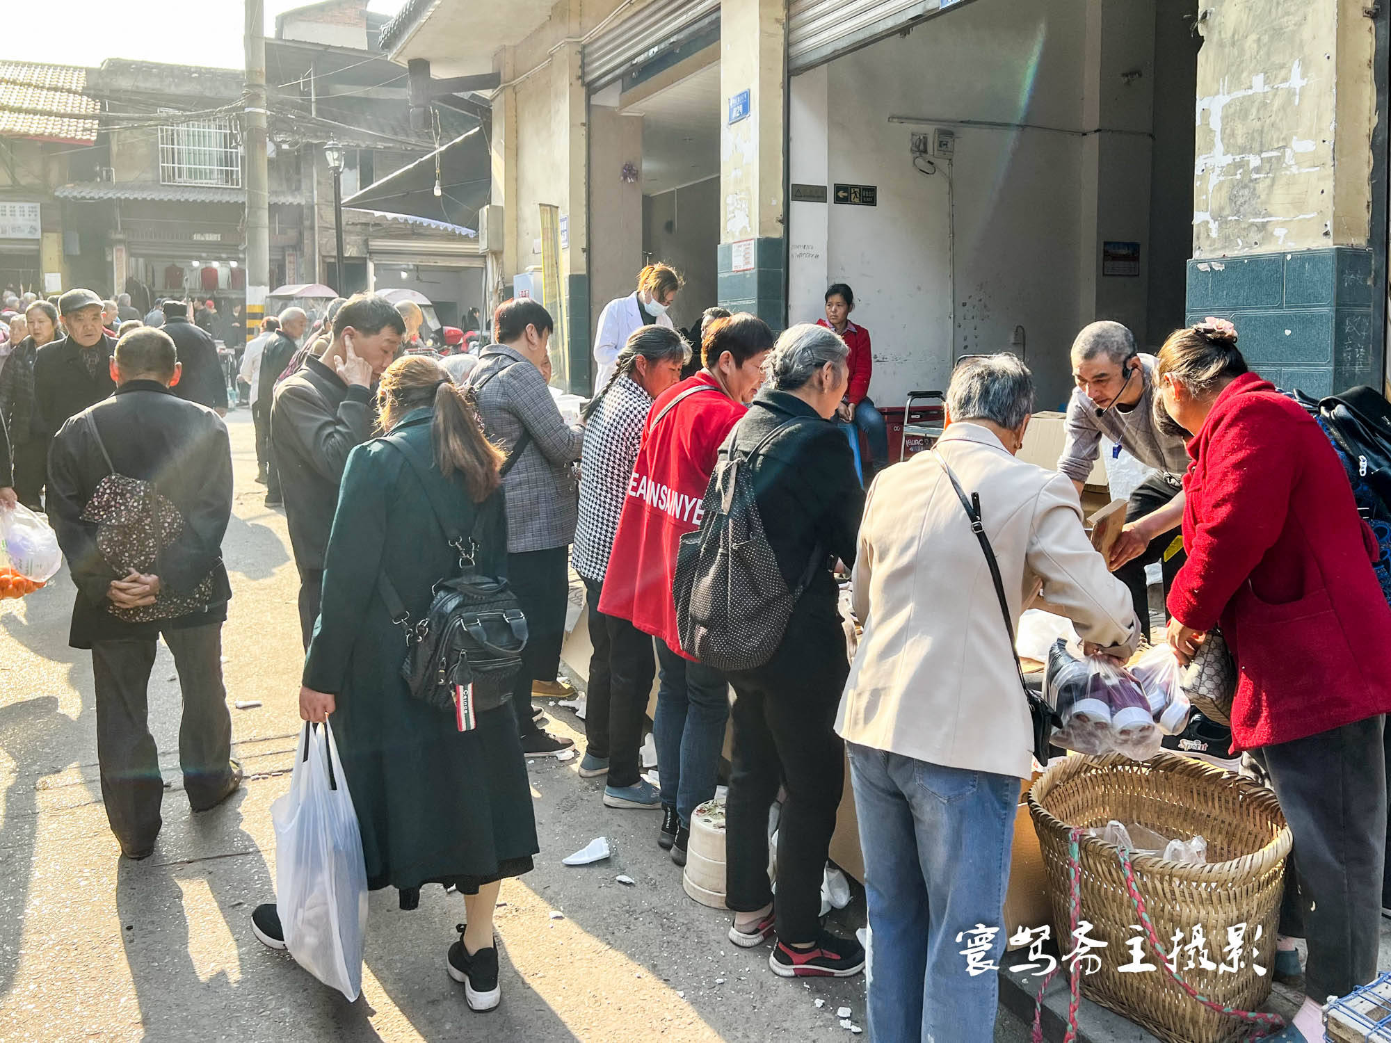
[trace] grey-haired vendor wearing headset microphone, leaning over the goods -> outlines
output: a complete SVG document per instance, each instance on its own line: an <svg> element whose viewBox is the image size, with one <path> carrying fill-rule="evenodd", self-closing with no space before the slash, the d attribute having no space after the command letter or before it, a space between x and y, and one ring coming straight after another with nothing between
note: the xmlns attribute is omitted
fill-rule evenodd
<svg viewBox="0 0 1391 1043"><path fill-rule="evenodd" d="M1077 387L1067 403L1067 442L1057 469L1072 480L1081 494L1086 476L1100 453L1102 435L1114 446L1113 456L1125 449L1153 467L1129 496L1125 528L1107 565L1131 591L1135 615L1149 637L1149 594L1145 567L1164 563L1164 588L1168 588L1182 548L1174 542L1184 520L1182 474L1188 469L1184 438L1160 430L1155 419L1153 355L1142 355L1135 337L1120 323L1092 323L1072 342L1072 380Z"/></svg>

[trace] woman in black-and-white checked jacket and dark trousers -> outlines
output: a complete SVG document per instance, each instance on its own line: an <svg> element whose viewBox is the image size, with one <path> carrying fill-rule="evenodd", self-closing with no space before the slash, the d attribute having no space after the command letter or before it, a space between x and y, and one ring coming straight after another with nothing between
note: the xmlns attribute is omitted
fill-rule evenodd
<svg viewBox="0 0 1391 1043"><path fill-rule="evenodd" d="M676 384L690 345L665 325L638 327L613 360L613 375L584 407L580 508L570 560L588 592L590 683L580 776L608 776L604 804L659 809L662 795L641 779L638 750L657 661L652 638L620 616L600 612L604 573L623 515L643 426L652 399Z"/></svg>

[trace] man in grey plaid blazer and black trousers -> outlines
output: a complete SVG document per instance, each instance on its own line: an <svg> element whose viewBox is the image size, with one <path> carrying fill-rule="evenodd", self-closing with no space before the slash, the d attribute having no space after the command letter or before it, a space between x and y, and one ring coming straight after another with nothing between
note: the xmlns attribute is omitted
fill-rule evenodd
<svg viewBox="0 0 1391 1043"><path fill-rule="evenodd" d="M537 680L554 681L561 665L576 520L570 464L580 458L584 428L561 419L542 375L555 328L551 313L534 300L505 300L492 328L498 343L483 349L469 384L488 439L508 453L502 464L508 583L526 612L529 633L512 705L527 757L555 757L574 744L540 729L531 691Z"/></svg>

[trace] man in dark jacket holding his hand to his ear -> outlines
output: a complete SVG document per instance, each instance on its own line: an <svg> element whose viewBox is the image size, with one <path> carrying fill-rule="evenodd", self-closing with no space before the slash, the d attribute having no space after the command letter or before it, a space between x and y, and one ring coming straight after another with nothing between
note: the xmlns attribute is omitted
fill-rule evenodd
<svg viewBox="0 0 1391 1043"><path fill-rule="evenodd" d="M319 617L324 549L338 509L338 484L348 453L371 438L376 421L371 382L395 357L406 324L385 298L359 293L338 310L332 330L334 341L323 357L309 356L299 373L281 381L270 410L271 458L280 471L289 542L299 569L305 648ZM263 377L266 366L262 362ZM367 581L374 583L376 577Z"/></svg>

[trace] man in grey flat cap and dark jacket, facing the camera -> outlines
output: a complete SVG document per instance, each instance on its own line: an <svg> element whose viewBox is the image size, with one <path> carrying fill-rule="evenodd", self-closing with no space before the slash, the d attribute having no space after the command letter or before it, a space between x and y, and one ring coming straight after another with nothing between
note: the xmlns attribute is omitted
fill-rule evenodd
<svg viewBox="0 0 1391 1043"><path fill-rule="evenodd" d="M58 298L58 314L68 335L43 345L33 359L32 426L45 444L70 416L115 391L115 342L102 332L102 298L90 289L70 289Z"/></svg>

